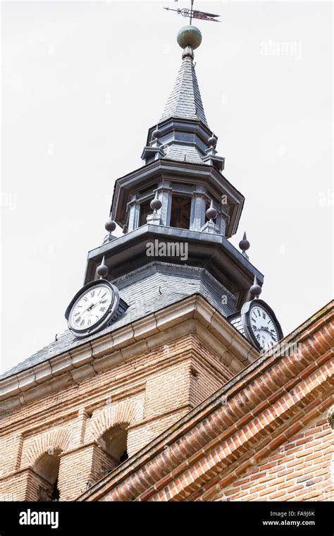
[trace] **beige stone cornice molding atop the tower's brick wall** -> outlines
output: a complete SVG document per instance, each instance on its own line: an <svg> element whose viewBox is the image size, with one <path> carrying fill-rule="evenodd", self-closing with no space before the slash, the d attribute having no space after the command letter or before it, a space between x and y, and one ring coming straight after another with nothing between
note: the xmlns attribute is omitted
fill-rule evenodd
<svg viewBox="0 0 334 536"><path fill-rule="evenodd" d="M194 332L209 348L215 348L233 373L259 355L221 313L202 296L194 294L1 380L0 414L78 384L178 336ZM228 359L226 351L232 358Z"/></svg>

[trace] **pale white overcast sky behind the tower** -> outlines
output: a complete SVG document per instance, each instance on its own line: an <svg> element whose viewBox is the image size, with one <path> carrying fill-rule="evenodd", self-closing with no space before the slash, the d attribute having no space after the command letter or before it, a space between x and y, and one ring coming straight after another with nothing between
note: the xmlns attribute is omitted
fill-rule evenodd
<svg viewBox="0 0 334 536"><path fill-rule="evenodd" d="M189 2L1 4L1 371L66 329L116 178L142 165ZM209 126L245 195L261 298L288 334L333 296L332 5L197 1Z"/></svg>

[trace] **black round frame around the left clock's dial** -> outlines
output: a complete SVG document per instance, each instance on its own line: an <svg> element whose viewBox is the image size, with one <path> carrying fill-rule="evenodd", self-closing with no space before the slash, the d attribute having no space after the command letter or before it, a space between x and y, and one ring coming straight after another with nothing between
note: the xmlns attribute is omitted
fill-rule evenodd
<svg viewBox="0 0 334 536"><path fill-rule="evenodd" d="M89 288L92 288L94 286L101 286L104 285L106 287L109 287L111 290L111 294L113 296L113 300L111 300L111 304L109 305L108 310L104 313L103 317L99 319L99 321L94 324L91 328L85 329L85 330L78 330L73 327L73 325L70 322L70 312L73 310L73 307L75 307L78 300L80 300L82 294L85 294L89 290ZM89 335L92 335L93 333L96 333L97 331L100 331L103 327L106 327L106 325L110 322L113 315L115 315L116 310L118 308L118 304L120 303L120 295L118 292L118 288L114 285L112 285L109 281L106 279L95 279L94 281L90 281L87 283L87 285L80 288L80 291L78 291L73 299L70 301L70 305L68 305L66 312L65 312L65 318L68 322L68 329L71 333L78 339L83 339L84 337L87 337Z"/></svg>

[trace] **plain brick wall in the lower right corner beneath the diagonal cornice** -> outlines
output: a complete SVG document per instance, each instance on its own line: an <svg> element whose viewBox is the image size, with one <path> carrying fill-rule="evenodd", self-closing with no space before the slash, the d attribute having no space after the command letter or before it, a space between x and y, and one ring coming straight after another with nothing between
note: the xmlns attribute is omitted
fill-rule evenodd
<svg viewBox="0 0 334 536"><path fill-rule="evenodd" d="M326 415L316 418L213 500L333 501L333 436Z"/></svg>

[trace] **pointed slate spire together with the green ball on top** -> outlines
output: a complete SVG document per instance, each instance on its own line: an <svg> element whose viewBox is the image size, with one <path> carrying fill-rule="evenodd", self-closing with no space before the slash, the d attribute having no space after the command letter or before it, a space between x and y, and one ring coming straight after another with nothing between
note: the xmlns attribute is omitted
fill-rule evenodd
<svg viewBox="0 0 334 536"><path fill-rule="evenodd" d="M178 44L183 48L183 61L159 123L173 117L188 121L202 121L205 126L209 127L193 62L193 51L202 42L201 32L194 26L185 26L178 32L177 39Z"/></svg>

